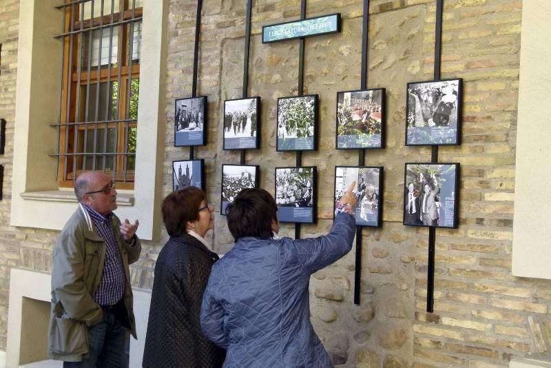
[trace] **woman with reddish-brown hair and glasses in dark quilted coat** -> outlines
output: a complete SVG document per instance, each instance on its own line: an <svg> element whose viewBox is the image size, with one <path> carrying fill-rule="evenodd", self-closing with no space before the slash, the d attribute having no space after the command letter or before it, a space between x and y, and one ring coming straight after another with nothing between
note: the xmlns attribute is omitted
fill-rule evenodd
<svg viewBox="0 0 551 368"><path fill-rule="evenodd" d="M222 367L226 352L202 334L199 321L202 294L218 260L205 242L213 209L197 187L163 201L170 238L155 264L143 367Z"/></svg>

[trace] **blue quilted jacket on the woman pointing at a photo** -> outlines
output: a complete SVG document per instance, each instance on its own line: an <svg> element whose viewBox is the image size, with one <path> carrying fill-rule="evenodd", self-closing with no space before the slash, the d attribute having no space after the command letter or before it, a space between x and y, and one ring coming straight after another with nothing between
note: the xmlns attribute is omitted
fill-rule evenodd
<svg viewBox="0 0 551 368"><path fill-rule="evenodd" d="M326 236L240 238L214 264L201 327L227 349L224 367L333 367L310 323L310 275L352 247L355 222L340 213Z"/></svg>

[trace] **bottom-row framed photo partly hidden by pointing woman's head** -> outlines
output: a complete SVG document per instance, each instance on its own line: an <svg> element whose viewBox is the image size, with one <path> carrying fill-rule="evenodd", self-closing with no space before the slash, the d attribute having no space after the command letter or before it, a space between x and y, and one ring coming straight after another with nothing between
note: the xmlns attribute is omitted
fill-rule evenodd
<svg viewBox="0 0 551 368"><path fill-rule="evenodd" d="M222 165L222 198L220 214L226 214L226 207L245 188L257 188L260 177L259 165Z"/></svg>

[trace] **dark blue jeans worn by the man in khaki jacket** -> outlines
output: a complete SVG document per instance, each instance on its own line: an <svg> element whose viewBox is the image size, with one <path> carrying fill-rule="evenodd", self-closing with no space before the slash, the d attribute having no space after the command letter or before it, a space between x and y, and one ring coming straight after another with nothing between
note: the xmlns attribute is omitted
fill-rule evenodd
<svg viewBox="0 0 551 368"><path fill-rule="evenodd" d="M104 308L101 321L88 327L88 358L63 362L63 368L128 368L129 336L113 311Z"/></svg>

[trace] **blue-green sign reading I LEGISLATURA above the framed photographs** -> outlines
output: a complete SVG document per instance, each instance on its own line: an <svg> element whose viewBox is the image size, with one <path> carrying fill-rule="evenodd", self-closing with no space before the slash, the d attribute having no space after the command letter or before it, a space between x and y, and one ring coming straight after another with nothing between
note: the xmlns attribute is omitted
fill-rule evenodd
<svg viewBox="0 0 551 368"><path fill-rule="evenodd" d="M340 32L340 13L262 27L262 43Z"/></svg>

